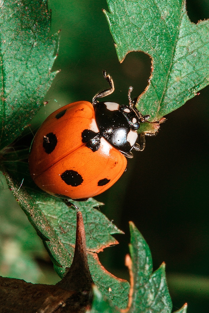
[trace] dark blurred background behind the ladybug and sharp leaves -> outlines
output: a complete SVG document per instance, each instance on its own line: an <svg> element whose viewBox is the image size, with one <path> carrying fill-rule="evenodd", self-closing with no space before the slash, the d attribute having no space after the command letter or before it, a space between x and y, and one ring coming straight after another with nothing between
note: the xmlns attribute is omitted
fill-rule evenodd
<svg viewBox="0 0 209 313"><path fill-rule="evenodd" d="M114 41L102 8L105 0L50 0L52 33L61 29L57 74L32 129L60 106L88 100L107 87L102 70L115 82L109 100L127 103L145 89L150 58L130 53L119 63ZM192 22L209 18L208 0L187 1ZM177 310L188 302L188 313L209 309L209 89L167 115L156 137L147 138L143 152L128 160L127 171L110 190L96 197L105 203L101 211L125 232L119 245L99 254L102 264L115 275L127 278L124 266L130 240L131 220L145 237L154 270L166 262L168 286ZM41 258L40 266L45 266ZM46 258L45 258L46 259ZM53 275L53 274L51 274ZM53 279L52 279L53 280Z"/></svg>

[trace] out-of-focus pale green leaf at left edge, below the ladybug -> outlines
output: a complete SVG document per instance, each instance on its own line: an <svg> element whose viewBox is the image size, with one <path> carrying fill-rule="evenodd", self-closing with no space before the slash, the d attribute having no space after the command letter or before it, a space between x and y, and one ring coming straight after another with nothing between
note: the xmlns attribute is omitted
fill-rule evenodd
<svg viewBox="0 0 209 313"><path fill-rule="evenodd" d="M1 173L0 179L0 275L37 283L43 274L36 259L45 259L46 251Z"/></svg>

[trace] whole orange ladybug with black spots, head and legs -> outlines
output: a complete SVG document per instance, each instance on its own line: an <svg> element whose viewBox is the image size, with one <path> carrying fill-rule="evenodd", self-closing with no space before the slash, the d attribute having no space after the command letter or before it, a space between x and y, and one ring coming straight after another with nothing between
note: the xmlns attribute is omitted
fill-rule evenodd
<svg viewBox="0 0 209 313"><path fill-rule="evenodd" d="M103 74L109 89L97 93L92 104L78 101L56 110L33 139L31 177L53 196L81 200L104 192L125 171L131 151L145 148L145 133L136 143L137 130L150 115L142 115L131 101L132 87L129 105L99 102L115 90L110 75Z"/></svg>

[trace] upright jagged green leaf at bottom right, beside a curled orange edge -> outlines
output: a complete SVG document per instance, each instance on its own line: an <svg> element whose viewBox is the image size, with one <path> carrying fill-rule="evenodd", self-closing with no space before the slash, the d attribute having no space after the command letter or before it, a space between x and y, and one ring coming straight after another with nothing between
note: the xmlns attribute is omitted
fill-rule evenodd
<svg viewBox="0 0 209 313"><path fill-rule="evenodd" d="M131 313L171 313L165 264L152 273L150 249L135 225L130 222L130 255L134 279Z"/></svg>

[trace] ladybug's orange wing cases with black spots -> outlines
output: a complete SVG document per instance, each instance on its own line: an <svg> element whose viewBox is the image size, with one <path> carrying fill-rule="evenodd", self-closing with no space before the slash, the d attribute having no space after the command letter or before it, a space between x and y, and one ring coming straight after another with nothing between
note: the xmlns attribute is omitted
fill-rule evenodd
<svg viewBox="0 0 209 313"><path fill-rule="evenodd" d="M37 131L29 154L34 182L51 195L94 197L123 174L126 158L104 138L97 151L82 142L85 129L96 130L93 105L74 102L55 111Z"/></svg>

